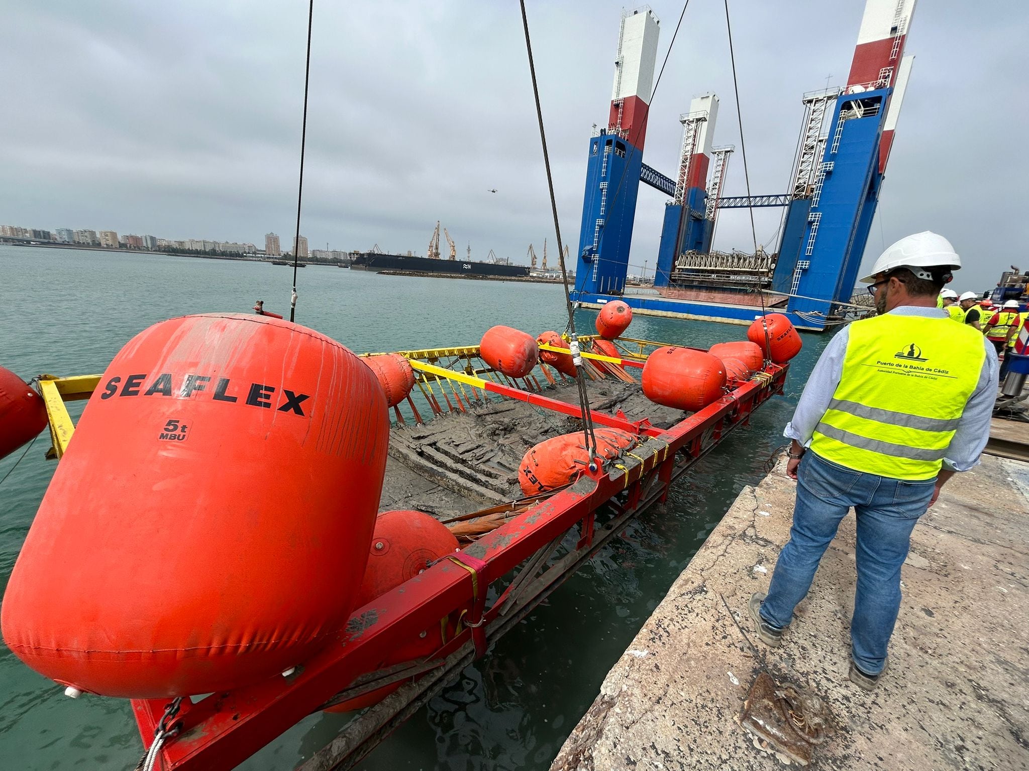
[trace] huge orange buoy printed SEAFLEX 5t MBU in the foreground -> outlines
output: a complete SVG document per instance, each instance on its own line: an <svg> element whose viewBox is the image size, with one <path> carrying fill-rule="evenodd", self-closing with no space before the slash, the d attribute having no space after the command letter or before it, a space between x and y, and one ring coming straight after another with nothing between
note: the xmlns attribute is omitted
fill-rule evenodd
<svg viewBox="0 0 1029 771"><path fill-rule="evenodd" d="M155 324L90 398L2 607L59 683L167 698L316 653L367 562L389 413L339 342L263 316Z"/></svg>

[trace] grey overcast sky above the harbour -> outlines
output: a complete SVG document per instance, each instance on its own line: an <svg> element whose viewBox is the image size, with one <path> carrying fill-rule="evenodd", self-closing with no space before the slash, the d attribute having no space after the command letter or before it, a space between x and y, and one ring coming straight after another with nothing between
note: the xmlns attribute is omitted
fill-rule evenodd
<svg viewBox="0 0 1029 771"><path fill-rule="evenodd" d="M661 20L659 67L681 10ZM805 91L845 82L861 0L733 0L751 189L784 192ZM575 252L588 140L606 120L622 5L529 3L562 234ZM627 6L629 7L629 6ZM989 8L989 10L986 10ZM0 224L169 238L291 242L307 3L8 0L0 24ZM960 289L1029 267L1024 151L1029 3L921 0L916 56L868 238L947 235ZM721 99L737 145L721 2L690 0L654 98L644 160L674 174L678 115ZM488 189L496 188L496 193ZM666 200L641 186L631 262L652 271ZM436 220L459 256L526 261L554 244L517 2L316 0L301 231L312 248L424 254ZM778 210L757 210L775 246ZM716 248L750 248L744 211ZM551 252L552 259L554 252Z"/></svg>

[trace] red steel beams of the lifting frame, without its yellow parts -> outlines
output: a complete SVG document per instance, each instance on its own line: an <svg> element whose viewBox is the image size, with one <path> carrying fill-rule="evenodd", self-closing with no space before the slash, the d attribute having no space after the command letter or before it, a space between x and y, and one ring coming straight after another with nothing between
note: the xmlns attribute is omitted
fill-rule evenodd
<svg viewBox="0 0 1029 771"><path fill-rule="evenodd" d="M630 361L625 362L632 366ZM487 588L536 555L540 563L561 537L580 526L580 549L594 540L594 514L604 504L612 504L628 517L638 513L641 502L655 497L664 500L674 476L711 449L729 430L746 425L750 413L774 394L781 394L788 365L769 364L751 380L736 383L729 394L681 423L662 431L645 421L623 424L618 428L640 433L641 444L634 457L612 468L607 465L587 473L571 487L531 505L509 522L482 537L458 555L458 560L437 562L402 586L357 609L336 640L304 662L289 676L275 677L236 691L218 693L192 704L183 700L176 717L180 734L162 748L158 759L166 771L201 771L233 768L270 743L351 687L354 681L377 670L384 654L410 641L426 629L438 629L446 617L457 620L456 636L431 659L442 659L474 645L476 656L485 652L487 630L505 612L510 590L489 609ZM504 396L568 412L569 406L538 394L526 395L505 387L490 389ZM531 398L527 398L530 397ZM580 414L571 407L573 414ZM597 413L600 414L600 413ZM607 423L607 425L610 425ZM684 463L678 465L681 454ZM657 492L649 492L657 487ZM614 501L627 491L624 504ZM645 499L645 501L644 501ZM608 527L608 537L613 536ZM549 547L549 550L548 550ZM596 545L599 548L599 545ZM592 553L592 552L591 552ZM589 556L589 555L587 555ZM532 573L536 564L533 561ZM573 571L577 563L570 566ZM532 575L528 576L529 579ZM521 580L516 579L516 583ZM563 579L559 579L557 583ZM551 582L554 583L554 582ZM549 587L543 591L552 590ZM538 601L538 599L537 599ZM509 609L507 609L509 610ZM503 629L499 633L502 633ZM453 658L453 656L452 656ZM423 667L423 670L428 667ZM167 699L133 700L133 711L144 744L153 741L154 730L168 705Z"/></svg>

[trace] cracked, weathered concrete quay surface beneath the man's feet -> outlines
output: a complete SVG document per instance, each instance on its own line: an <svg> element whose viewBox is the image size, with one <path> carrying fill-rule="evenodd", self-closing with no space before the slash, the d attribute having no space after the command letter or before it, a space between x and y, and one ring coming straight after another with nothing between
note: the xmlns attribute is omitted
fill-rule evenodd
<svg viewBox="0 0 1029 771"><path fill-rule="evenodd" d="M847 680L854 516L843 521L779 649L753 634L746 600L768 587L789 536L795 483L783 463L745 487L672 585L552 771L776 769L739 725L768 671L823 699L822 769L1029 768L1029 465L984 455L925 514L904 563L890 670Z"/></svg>

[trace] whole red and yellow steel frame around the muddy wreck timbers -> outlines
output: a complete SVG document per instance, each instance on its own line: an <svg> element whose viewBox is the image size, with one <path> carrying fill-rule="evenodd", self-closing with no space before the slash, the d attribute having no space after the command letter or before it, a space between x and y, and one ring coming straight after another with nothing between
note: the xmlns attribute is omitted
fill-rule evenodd
<svg viewBox="0 0 1029 771"><path fill-rule="evenodd" d="M623 358L587 354L588 361L639 368L648 350L666 344L632 338L619 338L617 343ZM581 415L577 405L545 396L544 388L532 374L519 387L517 380L495 372L478 357L477 346L398 353L412 362L424 408L433 414L465 411L494 394L568 415ZM593 377L603 376L597 369L588 369ZM756 407L782 393L787 369L786 364L767 364L761 372L749 380L732 382L718 401L668 430L654 428L647 420L630 421L592 411L594 420L600 425L638 434L640 444L618 461L596 472L587 472L574 484L553 495L512 502L511 509L517 514L509 521L453 558L437 562L357 609L334 645L286 675L211 694L197 703L183 700L171 723L178 735L158 755L163 768L199 771L235 767L318 709L406 681L395 693L348 723L301 769L321 771L354 766L625 529L635 516L664 501L672 482L726 434L746 426ZM551 382L563 377L557 372L555 377L542 365L539 370ZM65 402L87 399L99 379L99 375L40 378L50 417L52 456L63 455L74 433ZM447 409L436 398L436 391L443 396ZM450 400L451 395L454 401ZM410 407L421 421L414 401ZM399 411L397 418L403 420ZM598 523L599 512L609 518ZM576 528L574 548L564 549L565 553L559 555L562 541ZM491 587L495 599L487 607ZM432 656L378 668L391 652L426 629L438 629L448 619L455 633ZM133 701L133 711L147 747L153 741L166 707L167 699Z"/></svg>

